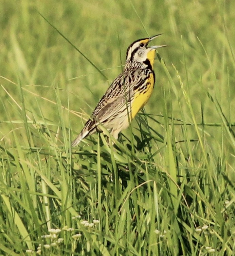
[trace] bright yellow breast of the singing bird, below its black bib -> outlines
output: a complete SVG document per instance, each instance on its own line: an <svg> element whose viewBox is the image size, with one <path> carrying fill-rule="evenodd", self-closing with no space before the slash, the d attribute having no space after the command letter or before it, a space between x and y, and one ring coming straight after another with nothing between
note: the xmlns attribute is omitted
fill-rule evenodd
<svg viewBox="0 0 235 256"><path fill-rule="evenodd" d="M133 99L133 102L131 105L132 119L139 112L139 110L144 107L144 105L148 101L149 97L152 94L153 86L154 86L154 78L153 78L153 74L150 74L150 77L148 78L146 89L142 92L137 91L136 95L134 96L134 99Z"/></svg>

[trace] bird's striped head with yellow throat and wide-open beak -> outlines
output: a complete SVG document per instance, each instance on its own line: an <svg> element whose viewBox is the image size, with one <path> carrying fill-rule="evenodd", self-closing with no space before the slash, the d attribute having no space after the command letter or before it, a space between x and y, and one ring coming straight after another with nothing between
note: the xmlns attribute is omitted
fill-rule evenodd
<svg viewBox="0 0 235 256"><path fill-rule="evenodd" d="M153 68L153 61L155 57L155 51L157 48L165 47L166 45L153 45L150 47L148 46L148 43L155 39L156 37L160 36L161 34L138 39L137 41L134 41L128 48L126 52L126 62L131 63L150 63L151 67Z"/></svg>

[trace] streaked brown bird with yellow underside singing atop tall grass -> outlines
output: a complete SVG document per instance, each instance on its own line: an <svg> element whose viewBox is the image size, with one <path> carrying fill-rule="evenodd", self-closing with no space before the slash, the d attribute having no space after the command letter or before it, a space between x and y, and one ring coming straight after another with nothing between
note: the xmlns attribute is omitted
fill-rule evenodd
<svg viewBox="0 0 235 256"><path fill-rule="evenodd" d="M138 39L127 48L123 72L111 83L71 147L98 131L99 125L103 125L116 140L118 134L129 126L152 94L155 51L166 45L148 47L148 44L160 35Z"/></svg>

